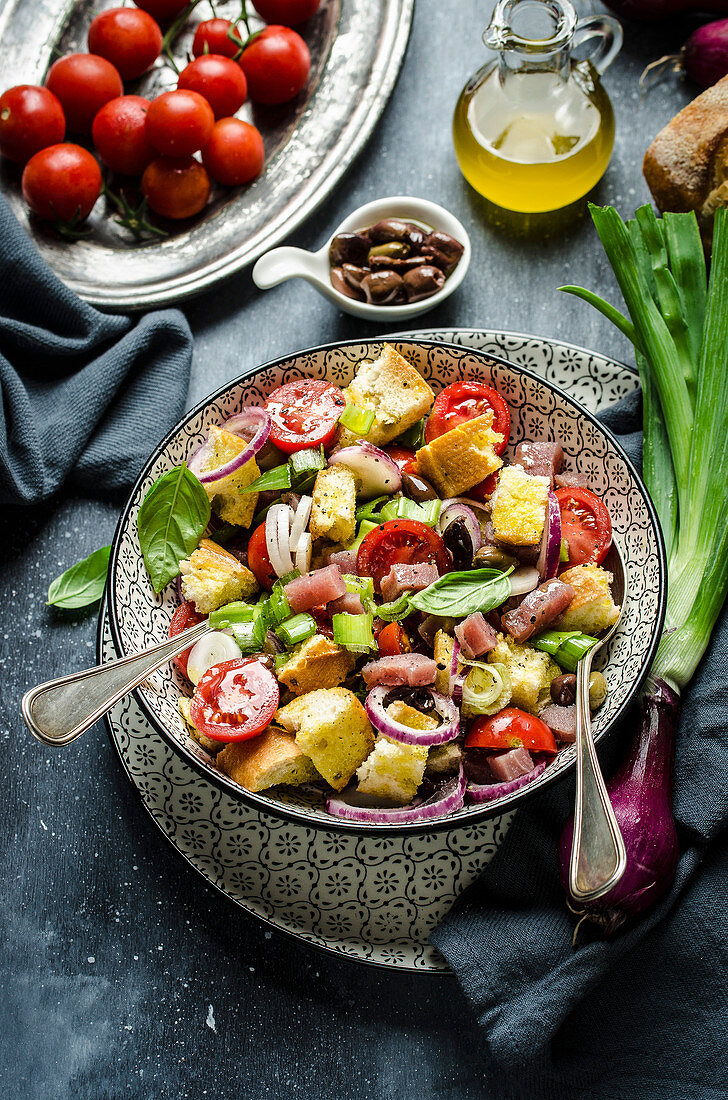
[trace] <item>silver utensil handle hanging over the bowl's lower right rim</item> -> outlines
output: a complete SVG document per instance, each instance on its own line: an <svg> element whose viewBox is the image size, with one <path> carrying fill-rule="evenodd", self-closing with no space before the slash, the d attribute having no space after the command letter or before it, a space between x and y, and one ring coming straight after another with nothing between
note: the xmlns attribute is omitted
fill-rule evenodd
<svg viewBox="0 0 728 1100"><path fill-rule="evenodd" d="M592 737L592 658L589 651L576 667L576 809L569 865L569 890L576 901L594 901L607 893L627 866L627 849Z"/></svg>

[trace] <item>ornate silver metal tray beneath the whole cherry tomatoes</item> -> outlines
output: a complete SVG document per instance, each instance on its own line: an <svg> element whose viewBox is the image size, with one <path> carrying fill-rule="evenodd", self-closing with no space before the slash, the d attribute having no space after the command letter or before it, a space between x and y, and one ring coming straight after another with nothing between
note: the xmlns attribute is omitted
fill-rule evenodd
<svg viewBox="0 0 728 1100"><path fill-rule="evenodd" d="M3 87L42 82L54 51L85 52L93 15L115 6L118 0L0 0ZM246 103L240 112L263 133L263 175L245 188L214 190L198 218L165 223L165 240L135 241L102 197L89 218L91 234L69 243L29 213L16 166L3 162L0 187L48 264L87 301L129 311L198 294L277 244L335 187L391 94L412 9L413 0L323 0L299 29L311 51L307 90L279 108ZM233 19L240 0L222 0L216 11ZM209 6L199 4L190 34L179 40L180 61L195 24L210 18ZM152 97L175 80L173 69L157 62L125 90Z"/></svg>

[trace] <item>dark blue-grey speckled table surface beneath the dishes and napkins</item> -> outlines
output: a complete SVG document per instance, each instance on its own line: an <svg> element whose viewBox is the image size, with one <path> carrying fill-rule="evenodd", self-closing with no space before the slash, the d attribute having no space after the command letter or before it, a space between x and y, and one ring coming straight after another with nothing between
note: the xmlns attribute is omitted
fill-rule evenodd
<svg viewBox="0 0 728 1100"><path fill-rule="evenodd" d="M352 207L383 195L433 199L467 226L473 262L463 287L424 326L530 331L625 356L600 317L556 292L577 282L614 293L588 221L550 237L494 228L459 174L450 121L460 88L483 62L489 8L418 0L401 76L373 140L293 243L318 246ZM595 198L625 215L648 197L644 148L695 91L666 81L640 102L639 74L677 48L690 25L628 25L607 74L618 132ZM249 274L185 310L196 340L190 405L273 356L385 331L338 314L304 283L262 294ZM377 971L271 935L188 871L129 788L101 724L54 752L31 739L19 716L22 692L95 657L95 616L51 612L48 582L110 541L118 512L119 502L60 496L0 517L2 1093L537 1094L488 1072L453 978ZM620 1053L599 1053L598 1018L588 1036L597 1052L588 1094L622 1096L609 1072ZM569 1042L560 1043L567 1059Z"/></svg>

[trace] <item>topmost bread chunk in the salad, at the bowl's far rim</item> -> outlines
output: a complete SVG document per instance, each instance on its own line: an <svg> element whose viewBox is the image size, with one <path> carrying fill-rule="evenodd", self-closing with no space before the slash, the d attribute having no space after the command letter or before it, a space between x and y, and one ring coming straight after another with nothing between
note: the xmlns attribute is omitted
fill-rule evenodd
<svg viewBox="0 0 728 1100"><path fill-rule="evenodd" d="M390 344L385 344L377 360L364 361L344 391L348 404L374 413L374 422L365 438L382 447L407 431L430 411L434 394L419 371ZM355 441L356 433L344 430L339 442Z"/></svg>

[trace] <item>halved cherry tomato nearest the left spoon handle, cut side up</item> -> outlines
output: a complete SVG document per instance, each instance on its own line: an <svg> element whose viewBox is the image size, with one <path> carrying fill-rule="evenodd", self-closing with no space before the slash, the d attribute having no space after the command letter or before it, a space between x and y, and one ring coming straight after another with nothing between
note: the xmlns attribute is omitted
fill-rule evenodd
<svg viewBox="0 0 728 1100"><path fill-rule="evenodd" d="M261 661L238 657L213 664L197 684L190 717L216 741L246 741L262 733L276 713L278 681Z"/></svg>

